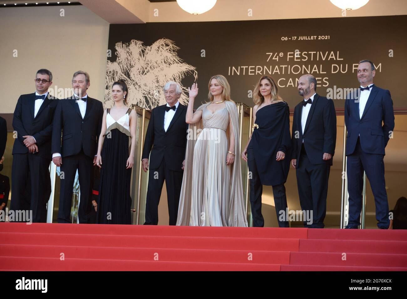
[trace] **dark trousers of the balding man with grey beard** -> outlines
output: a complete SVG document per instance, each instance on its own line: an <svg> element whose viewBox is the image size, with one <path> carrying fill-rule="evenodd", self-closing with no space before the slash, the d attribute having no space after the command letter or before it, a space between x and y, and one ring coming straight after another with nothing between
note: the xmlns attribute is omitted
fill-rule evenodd
<svg viewBox="0 0 407 299"><path fill-rule="evenodd" d="M297 164L296 175L301 209L305 210L307 215L311 215L311 211L313 213L312 223L305 220L304 227L324 228L330 165L312 164L304 144Z"/></svg>

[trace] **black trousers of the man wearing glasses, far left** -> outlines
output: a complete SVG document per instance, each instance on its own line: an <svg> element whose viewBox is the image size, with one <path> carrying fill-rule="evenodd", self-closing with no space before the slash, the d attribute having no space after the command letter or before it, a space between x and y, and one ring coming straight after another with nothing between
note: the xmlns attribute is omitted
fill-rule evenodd
<svg viewBox="0 0 407 299"><path fill-rule="evenodd" d="M51 190L49 165L48 159L36 154L13 155L10 209L33 211L32 222L46 219L45 206Z"/></svg>

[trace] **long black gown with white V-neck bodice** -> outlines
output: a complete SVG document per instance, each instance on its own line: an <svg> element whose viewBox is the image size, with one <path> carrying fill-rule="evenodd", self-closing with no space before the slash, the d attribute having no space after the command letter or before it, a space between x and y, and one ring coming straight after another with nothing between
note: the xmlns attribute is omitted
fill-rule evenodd
<svg viewBox="0 0 407 299"><path fill-rule="evenodd" d="M107 109L96 221L99 224L131 224L131 168L126 169L131 109L117 121L109 112Z"/></svg>

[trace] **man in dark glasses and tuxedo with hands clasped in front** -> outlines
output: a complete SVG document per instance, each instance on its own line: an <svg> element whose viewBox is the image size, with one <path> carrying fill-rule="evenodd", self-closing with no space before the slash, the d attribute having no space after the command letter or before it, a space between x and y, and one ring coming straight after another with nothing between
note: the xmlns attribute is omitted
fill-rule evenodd
<svg viewBox="0 0 407 299"><path fill-rule="evenodd" d="M13 146L11 170L11 210L23 210L30 205L33 222L44 217L44 207L49 198L51 179L48 170L51 161L51 134L54 111L58 100L48 93L52 73L38 70L35 93L23 94L17 101L13 128L17 138ZM27 184L30 186L27 186ZM27 192L31 189L30 192ZM29 198L26 198L29 194ZM24 209L25 210L25 209Z"/></svg>

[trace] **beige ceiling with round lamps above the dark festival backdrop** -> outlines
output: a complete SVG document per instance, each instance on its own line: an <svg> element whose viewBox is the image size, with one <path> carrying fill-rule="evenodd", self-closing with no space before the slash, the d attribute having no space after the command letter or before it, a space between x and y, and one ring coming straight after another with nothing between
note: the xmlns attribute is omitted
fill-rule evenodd
<svg viewBox="0 0 407 299"><path fill-rule="evenodd" d="M0 5L26 2L53 3L57 0L0 0ZM341 9L329 0L217 0L210 11L201 15L191 15L183 11L177 2L149 2L149 0L79 0L79 2L110 24L343 17ZM248 15L249 10L252 12L251 16ZM407 15L407 1L370 0L360 9L346 12L346 17L379 15Z"/></svg>

